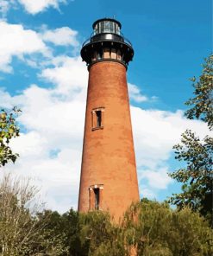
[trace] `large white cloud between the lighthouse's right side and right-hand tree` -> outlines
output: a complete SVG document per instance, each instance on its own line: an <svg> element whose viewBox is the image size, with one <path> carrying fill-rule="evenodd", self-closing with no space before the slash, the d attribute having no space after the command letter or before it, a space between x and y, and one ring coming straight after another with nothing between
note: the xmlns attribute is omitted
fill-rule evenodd
<svg viewBox="0 0 213 256"><path fill-rule="evenodd" d="M159 161L170 157L172 145L179 142L187 128L204 137L208 128L203 122L189 120L184 113L159 110L142 110L131 106L131 115L137 152L137 163L155 168Z"/></svg>

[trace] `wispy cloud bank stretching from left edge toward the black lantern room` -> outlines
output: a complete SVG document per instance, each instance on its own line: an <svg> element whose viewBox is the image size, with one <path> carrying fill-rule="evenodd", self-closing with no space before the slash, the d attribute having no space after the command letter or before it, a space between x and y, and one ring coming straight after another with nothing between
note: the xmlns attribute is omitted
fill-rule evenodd
<svg viewBox="0 0 213 256"><path fill-rule="evenodd" d="M67 27L49 30L43 25L41 31L37 32L25 29L21 24L0 21L0 35L0 71L5 73L12 73L11 63L14 57L34 68L48 67L52 64L59 67L61 60L66 57L54 57L55 47L72 46L76 49L79 46L78 32ZM51 70L43 71L47 72L50 73Z"/></svg>

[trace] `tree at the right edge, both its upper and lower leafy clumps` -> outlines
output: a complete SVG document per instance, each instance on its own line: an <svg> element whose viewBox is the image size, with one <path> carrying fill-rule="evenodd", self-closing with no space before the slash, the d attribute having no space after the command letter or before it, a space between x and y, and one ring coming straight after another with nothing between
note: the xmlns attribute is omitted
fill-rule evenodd
<svg viewBox="0 0 213 256"><path fill-rule="evenodd" d="M187 106L192 107L185 112L185 115L187 118L204 120L212 130L213 55L210 54L205 61L204 70L199 80L193 84L196 97L186 102ZM176 204L179 208L190 206L212 221L213 138L206 136L202 140L189 130L185 131L181 137L181 143L174 145L173 149L176 154L175 158L184 162L185 167L175 170L169 175L178 182L183 182L182 193L172 195L169 202Z"/></svg>

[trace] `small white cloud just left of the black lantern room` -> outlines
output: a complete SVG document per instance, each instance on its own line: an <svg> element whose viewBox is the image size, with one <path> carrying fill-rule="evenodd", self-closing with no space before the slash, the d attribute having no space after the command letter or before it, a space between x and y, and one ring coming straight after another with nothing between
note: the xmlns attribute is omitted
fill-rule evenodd
<svg viewBox="0 0 213 256"><path fill-rule="evenodd" d="M79 43L76 39L78 32L68 27L60 29L45 30L41 34L41 38L46 42L53 42L55 45L71 45L78 47Z"/></svg>

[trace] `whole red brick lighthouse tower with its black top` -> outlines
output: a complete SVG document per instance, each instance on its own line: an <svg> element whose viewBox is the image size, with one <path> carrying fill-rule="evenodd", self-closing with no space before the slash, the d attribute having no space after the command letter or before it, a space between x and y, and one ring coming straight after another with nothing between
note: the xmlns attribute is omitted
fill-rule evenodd
<svg viewBox="0 0 213 256"><path fill-rule="evenodd" d="M89 70L78 211L110 211L118 221L139 201L126 71L134 50L121 23L104 18L81 49Z"/></svg>

